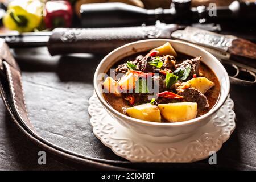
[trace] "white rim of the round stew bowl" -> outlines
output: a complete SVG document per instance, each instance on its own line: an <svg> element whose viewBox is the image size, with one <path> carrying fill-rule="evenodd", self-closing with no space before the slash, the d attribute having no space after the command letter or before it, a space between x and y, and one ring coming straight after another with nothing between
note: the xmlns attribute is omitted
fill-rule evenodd
<svg viewBox="0 0 256 182"><path fill-rule="evenodd" d="M170 123L150 122L150 121L144 121L144 120L141 120L141 119L132 118L132 117L129 117L128 115L119 113L112 106L110 106L108 104L108 102L105 101L104 97L101 96L100 90L98 89L98 85L97 85L97 77L98 77L98 74L99 74L98 72L99 72L102 64L105 63L105 61L108 59L108 57L110 55L113 55L113 53L118 52L120 49L122 49L124 47L133 46L134 44L138 44L138 43L142 43L142 42L155 42L155 41L156 42L158 42L158 41L161 41L161 42L166 41L166 42L181 43L181 44L185 44L187 46L191 46L191 47L194 47L196 49L199 49L200 51L203 51L204 53L207 53L212 58L212 60L214 60L217 63L218 67L221 68L222 71L224 72L225 79L227 81L227 85L226 85L226 88L225 88L226 93L225 92L224 93L220 93L220 94L225 94L223 96L224 98L222 100L220 100L220 96L219 96L218 100L217 100L216 104L213 106L213 108L210 109L208 111L208 113L206 113L204 115L201 115L200 117L197 117L197 118L194 118L194 119L190 119L188 121L170 122ZM196 46L195 44L191 44L191 43L184 42L184 41L181 41L181 40L172 40L172 39L146 39L146 40L138 40L138 41L135 41L135 42L131 42L131 43L125 44L125 45L123 45L121 47L118 47L118 48L114 49L112 52L108 53L108 55L106 55L100 61L100 63L98 64L98 66L96 68L96 71L94 73L94 78L93 78L93 86L94 86L94 90L96 92L96 96L100 100L101 104L104 105L104 107L106 109L108 109L110 111L110 113L113 113L114 115L117 115L117 117L119 117L119 118L122 118L122 119L124 119L126 121L135 122L135 123L139 123L139 124L147 125L147 126L174 126L174 127L176 126L176 127L178 127L178 126L192 125L193 123L203 121L205 118L207 118L210 115L216 113L220 109L220 107L224 104L224 102L226 101L226 99L229 96L230 80L229 80L228 73L226 72L226 70L225 70L224 66L221 64L221 62L215 56L213 56L211 53L209 53L208 51L206 51L205 49L203 49L203 48L201 48L199 46ZM221 86L221 84L220 84L220 86Z"/></svg>

